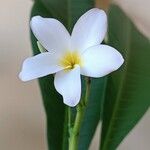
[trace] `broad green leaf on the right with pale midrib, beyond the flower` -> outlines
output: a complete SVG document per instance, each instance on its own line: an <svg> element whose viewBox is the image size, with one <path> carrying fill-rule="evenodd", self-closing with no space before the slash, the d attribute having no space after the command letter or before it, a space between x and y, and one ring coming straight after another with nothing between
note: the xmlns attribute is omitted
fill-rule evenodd
<svg viewBox="0 0 150 150"><path fill-rule="evenodd" d="M107 80L101 150L115 150L150 106L150 41L114 5L109 11L108 38L125 63Z"/></svg>

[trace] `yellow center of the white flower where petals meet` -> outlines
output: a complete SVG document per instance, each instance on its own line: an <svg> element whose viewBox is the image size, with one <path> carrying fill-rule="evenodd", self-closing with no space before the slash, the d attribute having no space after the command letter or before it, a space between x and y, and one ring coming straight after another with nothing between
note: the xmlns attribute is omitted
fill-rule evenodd
<svg viewBox="0 0 150 150"><path fill-rule="evenodd" d="M73 52L66 52L65 55L62 57L60 60L61 66L63 66L66 69L73 69L75 65L80 65L81 66L81 58L78 52L73 51Z"/></svg>

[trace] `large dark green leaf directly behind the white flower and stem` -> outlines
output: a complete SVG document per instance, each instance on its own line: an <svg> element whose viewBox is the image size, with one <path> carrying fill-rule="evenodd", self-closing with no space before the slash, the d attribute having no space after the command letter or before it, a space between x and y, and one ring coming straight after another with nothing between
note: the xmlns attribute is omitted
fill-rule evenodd
<svg viewBox="0 0 150 150"><path fill-rule="evenodd" d="M94 0L36 0L31 17L41 15L60 20L71 31L77 19L94 6ZM34 54L38 54L37 40L31 33ZM53 75L39 79L47 116L47 137L50 150L68 149L67 109L56 92ZM79 150L87 150L100 119L105 79L93 79L91 95L85 112L79 140ZM85 87L83 84L83 91Z"/></svg>

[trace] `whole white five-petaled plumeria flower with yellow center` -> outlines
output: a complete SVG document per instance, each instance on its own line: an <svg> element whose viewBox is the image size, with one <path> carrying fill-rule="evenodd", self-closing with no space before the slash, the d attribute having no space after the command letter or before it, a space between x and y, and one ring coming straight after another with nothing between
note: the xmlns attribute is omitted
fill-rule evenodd
<svg viewBox="0 0 150 150"><path fill-rule="evenodd" d="M103 77L124 62L116 49L100 44L107 31L103 10L93 8L83 14L71 35L58 20L40 16L32 18L31 29L47 51L27 58L19 77L28 81L55 74L55 88L68 106L80 101L81 75Z"/></svg>

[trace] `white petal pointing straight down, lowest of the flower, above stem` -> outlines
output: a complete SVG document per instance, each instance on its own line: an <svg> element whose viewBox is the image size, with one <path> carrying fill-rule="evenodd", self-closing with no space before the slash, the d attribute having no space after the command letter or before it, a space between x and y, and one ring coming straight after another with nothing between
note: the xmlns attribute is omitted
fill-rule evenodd
<svg viewBox="0 0 150 150"><path fill-rule="evenodd" d="M80 67L67 71L59 71L55 75L54 85L63 96L64 103L70 107L76 106L81 97Z"/></svg>

